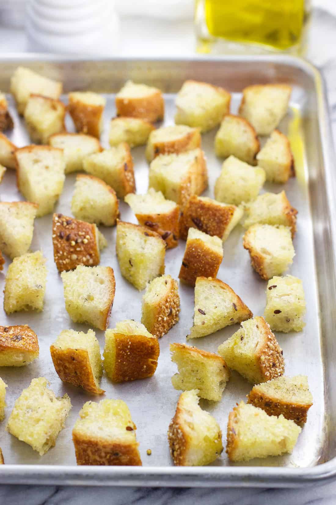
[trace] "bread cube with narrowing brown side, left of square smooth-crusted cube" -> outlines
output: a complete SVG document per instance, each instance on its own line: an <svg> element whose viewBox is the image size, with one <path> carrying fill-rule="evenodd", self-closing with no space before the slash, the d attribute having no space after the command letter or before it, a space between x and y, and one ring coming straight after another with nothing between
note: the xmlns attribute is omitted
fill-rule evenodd
<svg viewBox="0 0 336 505"><path fill-rule="evenodd" d="M63 330L50 346L56 373L63 382L81 386L94 394L103 394L99 387L103 375L99 342L95 332Z"/></svg>

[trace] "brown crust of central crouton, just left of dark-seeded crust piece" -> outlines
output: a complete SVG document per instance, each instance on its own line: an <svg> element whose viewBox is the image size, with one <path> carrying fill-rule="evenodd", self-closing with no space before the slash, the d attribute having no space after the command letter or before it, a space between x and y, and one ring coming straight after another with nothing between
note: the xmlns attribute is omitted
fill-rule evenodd
<svg viewBox="0 0 336 505"><path fill-rule="evenodd" d="M139 224L156 231L167 243L167 248L172 249L178 244L179 238L179 214L177 205L168 213L164 214L136 214Z"/></svg>

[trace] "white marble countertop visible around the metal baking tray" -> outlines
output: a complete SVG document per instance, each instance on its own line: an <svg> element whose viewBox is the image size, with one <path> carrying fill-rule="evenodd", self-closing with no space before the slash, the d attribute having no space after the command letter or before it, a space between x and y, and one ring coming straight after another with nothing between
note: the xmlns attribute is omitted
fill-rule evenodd
<svg viewBox="0 0 336 505"><path fill-rule="evenodd" d="M328 0L330 2L330 0ZM328 4L325 2L325 6ZM323 9L323 2L313 12L309 59L317 65L327 83L329 112L334 144L336 144L336 11ZM333 4L332 0L330 5ZM167 29L163 22L124 19L121 33L125 38L120 56L175 56L194 54L190 22L179 21ZM150 33L146 38L144 33ZM0 53L25 52L27 42L23 31L0 26ZM141 44L139 45L139 40ZM1 56L1 55L0 55ZM304 489L190 489L136 487L62 487L62 486L0 486L0 504L25 505L334 505L336 480Z"/></svg>

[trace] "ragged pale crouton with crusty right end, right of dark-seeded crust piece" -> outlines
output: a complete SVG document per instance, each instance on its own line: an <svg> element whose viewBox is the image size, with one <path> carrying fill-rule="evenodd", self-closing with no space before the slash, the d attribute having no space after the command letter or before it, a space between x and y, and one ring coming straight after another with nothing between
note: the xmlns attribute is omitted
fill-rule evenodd
<svg viewBox="0 0 336 505"><path fill-rule="evenodd" d="M298 211L289 203L285 191L281 193L263 193L245 205L246 219L244 227L253 224L270 224L289 226L292 238L296 232L296 215Z"/></svg>

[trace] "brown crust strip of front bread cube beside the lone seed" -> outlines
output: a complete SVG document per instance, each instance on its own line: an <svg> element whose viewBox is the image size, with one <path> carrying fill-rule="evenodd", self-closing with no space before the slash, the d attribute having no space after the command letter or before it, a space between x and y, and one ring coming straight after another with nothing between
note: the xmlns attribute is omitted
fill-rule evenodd
<svg viewBox="0 0 336 505"><path fill-rule="evenodd" d="M77 465L142 466L139 443L121 443L103 438L85 437L73 430Z"/></svg>

